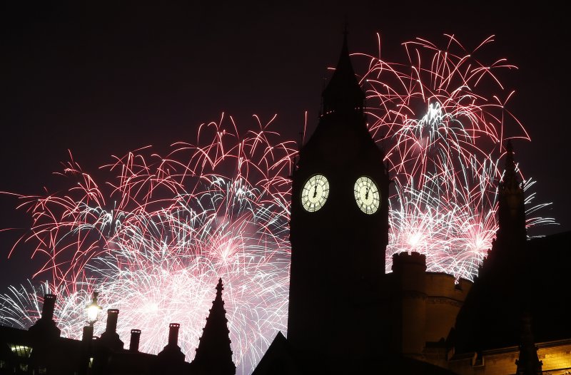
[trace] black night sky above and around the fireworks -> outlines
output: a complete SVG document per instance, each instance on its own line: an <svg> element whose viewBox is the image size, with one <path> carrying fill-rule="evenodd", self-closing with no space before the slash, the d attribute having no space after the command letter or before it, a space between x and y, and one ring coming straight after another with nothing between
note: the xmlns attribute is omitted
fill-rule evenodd
<svg viewBox="0 0 571 375"><path fill-rule="evenodd" d="M553 202L542 216L560 223L536 234L571 230L570 31L563 9L524 9L520 1L11 3L0 6L0 191L59 190L53 173L68 150L84 170L96 170L111 155L144 145L161 153L193 140L198 125L221 113L238 125L277 113L276 129L297 139L305 111L315 126L347 17L350 51L375 54L380 32L388 61L405 62L400 43L417 36L443 41L455 34L474 48L495 35L485 51L518 66L504 83L516 91L510 109L532 139L514 142L515 158L537 181L535 202ZM29 225L16 203L0 195L1 228ZM6 259L17 234L0 232L3 287L34 269L24 267L29 252Z"/></svg>

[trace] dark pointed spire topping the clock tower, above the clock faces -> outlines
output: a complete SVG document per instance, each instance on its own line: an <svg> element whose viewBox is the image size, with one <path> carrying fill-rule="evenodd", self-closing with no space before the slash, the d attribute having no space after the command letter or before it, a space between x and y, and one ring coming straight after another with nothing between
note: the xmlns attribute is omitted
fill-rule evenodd
<svg viewBox="0 0 571 375"><path fill-rule="evenodd" d="M323 115L333 112L350 113L358 111L363 113L365 93L361 90L355 77L353 65L349 57L347 44L347 24L343 33L343 47L337 63L337 68L327 87L323 91Z"/></svg>

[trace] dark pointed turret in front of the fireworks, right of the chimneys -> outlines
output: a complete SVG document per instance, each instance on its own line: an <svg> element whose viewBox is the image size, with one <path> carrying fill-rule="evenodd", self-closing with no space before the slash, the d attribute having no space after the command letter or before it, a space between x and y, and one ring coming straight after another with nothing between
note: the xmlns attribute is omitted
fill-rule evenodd
<svg viewBox="0 0 571 375"><path fill-rule="evenodd" d="M232 361L231 340L228 337L230 333L228 319L226 319L226 309L224 309L222 299L223 289L222 279L218 279L216 298L212 302L212 308L206 318L206 325L192 362L197 374L236 374L236 366Z"/></svg>

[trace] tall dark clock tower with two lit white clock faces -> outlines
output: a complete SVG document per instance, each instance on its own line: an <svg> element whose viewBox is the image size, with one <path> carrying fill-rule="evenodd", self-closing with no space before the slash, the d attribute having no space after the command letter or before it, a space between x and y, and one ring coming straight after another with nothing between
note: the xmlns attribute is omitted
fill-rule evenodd
<svg viewBox="0 0 571 375"><path fill-rule="evenodd" d="M371 137L347 35L319 123L292 176L288 341L324 359L378 354L388 173Z"/></svg>

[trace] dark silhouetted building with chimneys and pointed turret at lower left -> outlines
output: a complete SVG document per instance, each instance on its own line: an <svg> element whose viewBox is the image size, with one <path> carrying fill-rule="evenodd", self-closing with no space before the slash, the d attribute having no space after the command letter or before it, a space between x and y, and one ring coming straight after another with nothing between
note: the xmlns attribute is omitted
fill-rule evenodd
<svg viewBox="0 0 571 375"><path fill-rule="evenodd" d="M56 296L46 294L41 318L29 330L0 327L0 374L236 374L222 290L220 279L191 363L184 360L185 354L178 346L180 325L177 323L169 324L168 342L157 355L138 351L139 329L131 329L129 348L124 349L116 332L117 309L107 310L106 330L99 338L94 337L93 326L84 327L81 340L60 337L53 319Z"/></svg>

